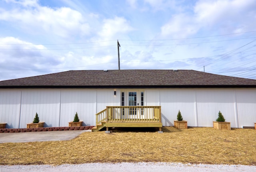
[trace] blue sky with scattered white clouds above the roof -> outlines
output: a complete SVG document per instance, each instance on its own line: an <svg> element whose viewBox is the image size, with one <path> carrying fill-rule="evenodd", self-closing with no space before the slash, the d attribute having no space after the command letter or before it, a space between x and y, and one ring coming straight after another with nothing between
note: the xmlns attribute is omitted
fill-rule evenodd
<svg viewBox="0 0 256 172"><path fill-rule="evenodd" d="M193 69L256 79L255 0L0 0L0 81Z"/></svg>

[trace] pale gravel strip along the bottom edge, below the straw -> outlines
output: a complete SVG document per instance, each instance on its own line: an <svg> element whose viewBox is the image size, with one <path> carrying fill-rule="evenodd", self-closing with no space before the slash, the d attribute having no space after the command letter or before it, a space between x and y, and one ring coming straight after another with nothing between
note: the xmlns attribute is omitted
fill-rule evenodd
<svg viewBox="0 0 256 172"><path fill-rule="evenodd" d="M1 172L256 172L256 166L244 165L209 165L181 163L88 163L50 165L15 165L0 166Z"/></svg>

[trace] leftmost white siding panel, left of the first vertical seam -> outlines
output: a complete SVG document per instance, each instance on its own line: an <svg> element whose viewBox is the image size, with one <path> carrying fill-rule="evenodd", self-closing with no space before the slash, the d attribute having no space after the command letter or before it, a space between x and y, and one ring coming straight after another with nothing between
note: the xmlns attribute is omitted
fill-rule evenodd
<svg viewBox="0 0 256 172"><path fill-rule="evenodd" d="M7 123L7 128L18 128L20 120L21 91L0 91L0 123Z"/></svg>

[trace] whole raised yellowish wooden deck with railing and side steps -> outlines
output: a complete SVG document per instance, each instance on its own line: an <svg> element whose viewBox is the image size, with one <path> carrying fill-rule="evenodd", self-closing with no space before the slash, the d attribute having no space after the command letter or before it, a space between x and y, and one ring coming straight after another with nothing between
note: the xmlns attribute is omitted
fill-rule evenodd
<svg viewBox="0 0 256 172"><path fill-rule="evenodd" d="M159 127L162 130L160 106L107 106L96 114L92 131L106 127Z"/></svg>

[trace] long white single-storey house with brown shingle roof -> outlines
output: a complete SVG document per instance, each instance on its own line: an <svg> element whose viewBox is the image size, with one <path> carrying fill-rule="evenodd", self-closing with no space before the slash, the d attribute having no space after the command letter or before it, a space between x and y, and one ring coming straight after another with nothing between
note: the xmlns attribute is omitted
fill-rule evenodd
<svg viewBox="0 0 256 172"><path fill-rule="evenodd" d="M219 111L231 127L253 126L256 80L194 70L81 70L0 81L7 128L26 128L36 113L45 127L65 127L76 112L83 125L173 126L178 110L191 127L212 127Z"/></svg>

